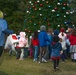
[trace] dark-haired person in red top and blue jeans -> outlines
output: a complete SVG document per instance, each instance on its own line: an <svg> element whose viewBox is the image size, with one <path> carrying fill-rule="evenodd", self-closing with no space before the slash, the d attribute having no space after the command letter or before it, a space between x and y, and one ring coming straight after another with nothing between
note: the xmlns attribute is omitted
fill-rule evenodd
<svg viewBox="0 0 76 75"><path fill-rule="evenodd" d="M38 40L38 32L34 32L34 36L32 38L32 45L34 47L34 61L38 60L38 47L39 47L39 40Z"/></svg>

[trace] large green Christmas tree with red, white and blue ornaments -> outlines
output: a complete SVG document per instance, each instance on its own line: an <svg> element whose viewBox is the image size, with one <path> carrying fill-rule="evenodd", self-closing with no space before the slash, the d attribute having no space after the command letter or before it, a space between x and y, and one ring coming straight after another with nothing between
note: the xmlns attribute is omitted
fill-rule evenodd
<svg viewBox="0 0 76 75"><path fill-rule="evenodd" d="M39 30L41 25L53 29L74 26L68 0L29 0L25 9L23 29L26 32Z"/></svg>

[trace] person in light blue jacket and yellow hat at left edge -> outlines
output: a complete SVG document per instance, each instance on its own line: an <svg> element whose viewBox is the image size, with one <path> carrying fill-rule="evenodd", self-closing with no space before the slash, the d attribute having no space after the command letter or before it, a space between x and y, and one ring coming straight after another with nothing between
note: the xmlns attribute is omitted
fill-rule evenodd
<svg viewBox="0 0 76 75"><path fill-rule="evenodd" d="M6 34L13 34L13 30L9 30L7 26L6 20L3 19L4 15L3 12L0 11L0 57L3 53L3 46L5 42L5 35Z"/></svg>

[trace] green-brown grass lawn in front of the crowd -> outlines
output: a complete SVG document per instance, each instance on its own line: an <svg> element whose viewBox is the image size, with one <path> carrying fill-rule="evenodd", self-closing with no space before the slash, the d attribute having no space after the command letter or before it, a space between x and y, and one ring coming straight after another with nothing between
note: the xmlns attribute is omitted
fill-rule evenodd
<svg viewBox="0 0 76 75"><path fill-rule="evenodd" d="M60 71L53 71L53 62L33 62L33 59L16 60L14 55L3 53L0 58L0 75L76 75L76 63L60 61Z"/></svg>

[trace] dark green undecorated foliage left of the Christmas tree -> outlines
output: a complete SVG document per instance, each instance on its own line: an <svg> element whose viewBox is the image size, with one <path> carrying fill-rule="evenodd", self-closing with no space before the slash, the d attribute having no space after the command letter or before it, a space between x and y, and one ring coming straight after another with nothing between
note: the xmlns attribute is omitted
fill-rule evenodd
<svg viewBox="0 0 76 75"><path fill-rule="evenodd" d="M25 4L25 0L0 0L0 10L5 14L9 28L15 33L22 30Z"/></svg>

